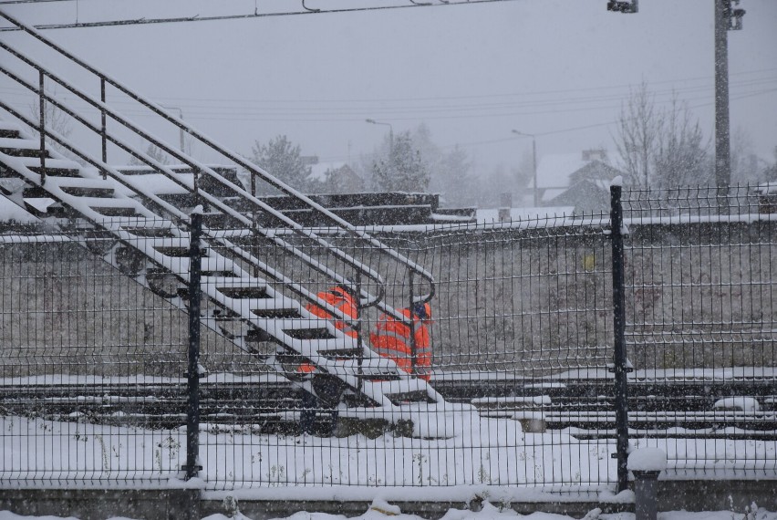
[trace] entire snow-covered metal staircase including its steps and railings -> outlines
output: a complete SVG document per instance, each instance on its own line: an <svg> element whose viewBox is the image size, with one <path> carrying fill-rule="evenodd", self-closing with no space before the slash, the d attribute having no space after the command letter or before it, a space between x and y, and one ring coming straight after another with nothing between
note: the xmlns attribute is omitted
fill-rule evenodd
<svg viewBox="0 0 777 520"><path fill-rule="evenodd" d="M23 28L28 34L43 41L49 47L55 48L68 59L90 72L99 74L102 81L108 81L116 88L129 93L129 89L120 86L112 79L98 73L95 69L80 62L78 58L67 55L55 44L40 36L35 29L23 26L0 12L0 16ZM31 58L25 57L20 51L0 42L5 51L20 57L27 65L39 71L46 70L36 64ZM354 286L360 295L362 307L373 306L407 322L396 309L383 299L382 288L378 295L368 293L360 284L361 276L373 282L372 286L382 284L382 278L368 265L350 257L343 251L329 244L313 231L303 229L287 216L275 212L269 206L256 199L242 186L224 179L212 168L195 161L182 152L161 140L156 140L149 133L140 130L124 118L118 111L111 109L102 100L91 99L78 88L74 88L62 80L65 85L79 98L86 100L107 114L111 120L117 121L137 133L143 139L151 140L163 150L171 152L197 174L181 174L155 161L142 151L138 151L126 140L95 127L86 120L78 119L78 112L68 109L57 99L48 96L45 91L31 85L23 78L16 77L12 70L0 64L0 71L14 79L18 84L30 89L44 102L55 104L69 115L82 122L88 130L92 130L106 140L129 151L140 161L163 175L174 183L181 192L188 193L192 200L199 201L208 215L221 215L231 225L232 234L223 229L211 229L207 225L202 231L202 278L203 296L207 297L208 305L202 307L202 323L245 351L254 353L256 341L272 341L277 345L277 353L263 357L264 362L278 372L289 374L290 367L302 362L316 365L321 373L328 373L342 380L351 390L352 399L347 400L354 407L369 410L368 415L375 417L383 414L391 421L402 418L405 411L417 410L423 406L444 404L444 400L429 383L420 380L400 370L390 359L379 357L363 342L350 338L334 327L333 323L320 319L306 310L301 301L315 303L324 307L334 316L343 317L337 309L328 306L310 292L306 286L295 279L285 276L274 266L266 264L254 255L251 248L244 247L233 241L237 236L256 234L270 240L285 253L295 255L300 261L311 266L313 271L326 280L326 283L346 283ZM43 72L41 72L43 74ZM53 73L46 72L47 77L57 78ZM377 240L366 234L356 232L352 226L337 216L306 199L301 193L277 182L271 175L256 165L246 162L238 154L223 149L212 140L184 125L181 120L174 120L161 109L132 94L145 107L152 109L165 120L172 120L177 126L185 126L186 131L219 151L224 157L234 161L238 166L252 172L287 194L300 197L314 210L325 213L332 222L345 232L356 234L359 239L372 244L389 255L393 260L406 265L411 280L409 302L429 301L433 296L433 283L430 276L420 266L413 264L398 253L386 248ZM31 128L38 128L35 120L30 120L23 113L0 99L0 108L5 109L17 121ZM87 246L93 253L101 255L110 264L115 265L122 273L132 277L143 286L165 297L181 309L188 310L188 276L190 262L190 215L189 208L176 207L167 202L155 192L153 186L141 182L139 177L119 172L51 129L41 129L47 137L44 143L39 135L32 135L23 130L15 121L0 120L0 192L22 207L36 213L39 217L49 220L52 224L67 222L67 232L79 243ZM66 148L88 166L81 166L58 153L48 140L57 142ZM105 149L103 149L105 155ZM208 176L209 181L216 182L230 193L229 197L216 196L202 189L200 178ZM41 205L41 199L50 199L52 203ZM237 202L237 203L235 203ZM306 237L316 246L326 248L332 255L356 269L356 282L347 276L333 272L327 265L319 264L316 259L307 256L294 243L285 240L284 234L275 234L274 229L264 229L256 226L251 212L271 213L275 222L292 232ZM77 223L77 224L73 224ZM235 225L243 229L235 229ZM412 280L422 278L429 282L427 294L413 295ZM238 324L238 327L229 327ZM358 325L358 318L356 320ZM293 370L293 369L292 369ZM314 391L309 381L300 382L308 391Z"/></svg>

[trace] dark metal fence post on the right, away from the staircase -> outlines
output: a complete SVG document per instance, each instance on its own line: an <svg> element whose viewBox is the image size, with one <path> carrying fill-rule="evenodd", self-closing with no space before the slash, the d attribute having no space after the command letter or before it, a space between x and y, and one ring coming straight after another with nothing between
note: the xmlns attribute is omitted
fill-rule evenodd
<svg viewBox="0 0 777 520"><path fill-rule="evenodd" d="M613 254L613 333L616 403L616 459L617 490L624 491L628 486L628 389L627 372L630 371L626 357L626 295L624 282L623 250L623 205L621 204L620 178L610 186L610 225Z"/></svg>

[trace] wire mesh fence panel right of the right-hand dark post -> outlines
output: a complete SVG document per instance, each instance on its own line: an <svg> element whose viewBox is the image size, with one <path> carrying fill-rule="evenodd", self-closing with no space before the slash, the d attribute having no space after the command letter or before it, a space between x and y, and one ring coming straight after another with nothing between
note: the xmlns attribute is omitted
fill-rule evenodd
<svg viewBox="0 0 777 520"><path fill-rule="evenodd" d="M670 473L773 475L777 221L746 186L720 201L627 195L632 442L666 449Z"/></svg>

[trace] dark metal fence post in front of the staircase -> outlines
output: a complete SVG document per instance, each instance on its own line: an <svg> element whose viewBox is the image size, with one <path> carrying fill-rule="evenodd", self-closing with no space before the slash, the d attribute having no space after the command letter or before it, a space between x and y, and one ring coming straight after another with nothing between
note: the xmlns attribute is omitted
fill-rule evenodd
<svg viewBox="0 0 777 520"><path fill-rule="evenodd" d="M197 476L202 469L198 464L200 454L200 273L202 269L202 206L192 212L192 228L189 244L189 369L187 389L189 404L186 410L186 480Z"/></svg>

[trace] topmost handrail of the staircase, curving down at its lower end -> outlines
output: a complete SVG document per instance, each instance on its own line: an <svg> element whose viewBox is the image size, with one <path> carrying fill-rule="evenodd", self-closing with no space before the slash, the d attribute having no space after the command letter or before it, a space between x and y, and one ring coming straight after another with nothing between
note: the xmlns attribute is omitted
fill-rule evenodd
<svg viewBox="0 0 777 520"><path fill-rule="evenodd" d="M26 26L25 24L22 24L21 22L16 20L16 18L14 18L12 16L8 16L3 10L0 10L0 17L5 18L5 20L7 20L10 23L14 24L15 26L19 27L20 29L25 31L30 36L35 37L40 42L44 43L47 47L50 47L50 48L54 49L55 51L57 51L62 56L67 57L70 61L72 61L72 62L78 64L80 67L86 69L88 72L90 72L94 76L98 77L100 79L101 83L102 82L109 83L109 85L111 85L114 88L117 88L120 92L123 92L124 94L129 96L129 98L136 100L137 102L139 102L141 105L143 105L147 109L150 109L151 111L156 113L162 119L169 121L171 124L173 124L174 126L179 128L180 130L186 131L193 138L196 138L197 140L199 140L203 144L207 145L213 151L217 151L218 153L222 154L223 157L226 157L226 158L230 159L231 161L235 162L236 164L242 166L248 172L250 172L252 175L256 175L256 176L262 178L264 180L264 182L267 182L268 184L270 184L271 186L273 186L276 189L280 190L281 192L285 192L286 194L294 197L295 199L300 200L303 203L306 203L306 205L308 207L310 207L311 209L315 210L317 213L320 213L320 214L324 215L327 219L329 219L334 224L337 224L338 227L346 230L349 234L351 234L353 236L356 236L357 238L360 238L362 240L366 240L373 247L377 248L378 250L380 250L384 254L387 254L387 255L391 256L399 264L405 265L408 268L410 273L414 273L414 274L420 276L421 278L426 280L427 283L429 284L429 293L427 293L425 296L418 296L417 298L415 298L415 300L417 302L420 302L420 303L429 302L431 300L431 298L434 296L434 293L435 293L434 278L433 278L433 276L431 276L431 274L426 269L424 269L420 265L418 265L415 262L411 261L406 256L399 254L399 252L393 250L387 244L381 243L378 239L372 237L371 235L369 235L369 234L367 234L365 232L359 231L355 226L353 226L352 224L347 223L347 221L345 221L344 219L340 218L335 213L330 212L329 210L327 210L326 208L324 208L320 204L318 204L315 201L311 200L304 193L297 192L294 188L292 188L291 186L288 186L287 184L285 184L285 182L281 182L281 181L275 179L275 177L270 175L268 172L265 172L264 169L262 169L258 165L255 165L254 163L252 163L250 161L244 160L242 157L240 157L239 155L234 154L233 152L227 150L225 147L223 147L219 143L216 143L215 141L208 139L207 137L202 135L200 132L194 130L188 123L184 122L183 120L181 120L179 118L175 118L174 116L171 116L170 114L168 114L164 109L162 109L156 103L153 103L152 101L149 101L147 99L143 99L139 94L136 94L135 92L129 90L129 88L124 87L117 80L115 80L113 78L110 78L108 75L102 73L97 68L94 68L94 67L88 65L83 60L81 60L78 57L76 57L76 56L70 54L69 52L67 52L67 50L63 49L62 47L57 46L57 44L55 44L54 42L49 40L46 36L43 36L42 34L40 34L33 27ZM53 78L53 76L52 76L52 78ZM102 103L99 103L99 105L98 105L98 104L95 104L93 102L92 104L94 106L98 107L98 108L101 108L101 109L108 109L108 107L102 105ZM102 107L100 107L101 105L102 105ZM115 116L111 113L111 117L115 117ZM128 127L128 128L130 128L130 127ZM132 130L132 129L130 128L130 130ZM133 131L135 131L135 130L133 130ZM168 148L168 147L165 147L165 148ZM165 151L168 152L168 153L171 153L172 156L177 157L180 160L182 160L181 154L179 154L179 153L177 153L175 151L170 151L170 150L165 150ZM187 162L187 163L189 163L189 162ZM192 167L194 167L194 166L192 166ZM211 175L217 181L223 182L223 183L225 183L225 185L232 184L231 182L228 182L228 184L226 184L227 181L225 179L223 179L223 177L221 175L218 175L217 173L209 171L209 170L210 169L206 169L204 171L207 172L209 175ZM235 188L235 186L233 184L231 186L228 186L228 187L230 187L231 189ZM256 205L257 207L263 209L263 211L267 211L267 209L265 209L263 207L263 206L266 206L266 204L261 203L258 199L256 199L256 197L254 197L253 193L248 194L242 188L239 189L239 190L235 190L235 191L241 192L243 197L245 197L251 203L254 203L254 205ZM269 207L269 206L266 206L266 207ZM293 226L293 228L295 228L296 226L298 226L300 229L302 228L302 226L299 226L299 224L296 224L296 223L295 223L295 226ZM328 247L331 248L332 246L328 245ZM365 274L368 275L368 273L365 273ZM372 276L369 276L369 277L372 277ZM381 308L385 307L385 306L380 306L379 304L380 304L380 302L378 301L377 302L378 307L381 307ZM403 316L401 316L400 313L397 313L396 310L394 310L391 307L382 308L382 310L388 311L388 313L390 315L394 316L394 317L403 318ZM393 311L393 312L391 312L391 311Z"/></svg>

